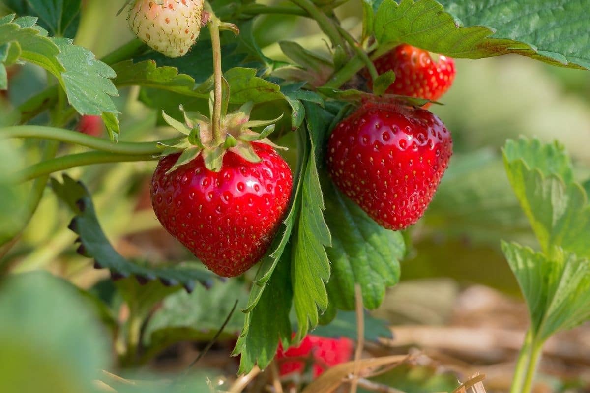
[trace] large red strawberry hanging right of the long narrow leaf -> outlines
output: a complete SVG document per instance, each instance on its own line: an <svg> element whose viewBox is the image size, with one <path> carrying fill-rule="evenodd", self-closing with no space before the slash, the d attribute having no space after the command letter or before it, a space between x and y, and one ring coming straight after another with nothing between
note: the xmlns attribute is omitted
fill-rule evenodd
<svg viewBox="0 0 590 393"><path fill-rule="evenodd" d="M327 161L340 191L397 230L424 214L452 154L451 134L434 114L366 102L336 126Z"/></svg>

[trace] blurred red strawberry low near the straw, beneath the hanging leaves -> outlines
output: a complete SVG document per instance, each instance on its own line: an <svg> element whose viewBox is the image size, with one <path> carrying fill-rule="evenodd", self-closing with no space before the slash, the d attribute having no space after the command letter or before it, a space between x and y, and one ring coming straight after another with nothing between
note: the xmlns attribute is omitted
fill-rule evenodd
<svg viewBox="0 0 590 393"><path fill-rule="evenodd" d="M306 363L301 358L309 358L313 366L313 377L316 378L328 367L348 362L353 349L353 342L348 338L307 335L299 346L289 348L287 351L283 351L282 346L279 345L276 359L280 375L287 375L304 371Z"/></svg>

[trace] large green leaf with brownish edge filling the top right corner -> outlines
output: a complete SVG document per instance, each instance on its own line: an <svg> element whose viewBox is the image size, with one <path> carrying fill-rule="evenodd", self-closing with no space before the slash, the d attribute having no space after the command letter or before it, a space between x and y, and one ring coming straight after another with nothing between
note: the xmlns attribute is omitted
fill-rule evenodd
<svg viewBox="0 0 590 393"><path fill-rule="evenodd" d="M380 45L406 42L455 58L478 59L508 53L590 68L590 31L585 0L498 4L485 0L383 0L375 15ZM501 11L489 12L491 8ZM445 12L447 11L447 12ZM463 25L466 25L465 27ZM572 31L580 34L572 36Z"/></svg>

